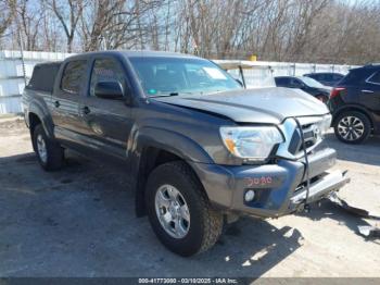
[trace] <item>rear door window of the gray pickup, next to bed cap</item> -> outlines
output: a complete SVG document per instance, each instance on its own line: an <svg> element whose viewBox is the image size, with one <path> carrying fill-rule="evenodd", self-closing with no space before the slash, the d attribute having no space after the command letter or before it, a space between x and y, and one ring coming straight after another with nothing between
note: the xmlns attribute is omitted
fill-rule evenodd
<svg viewBox="0 0 380 285"><path fill-rule="evenodd" d="M71 94L80 91L86 74L86 60L69 61L66 64L61 80L62 90Z"/></svg>

